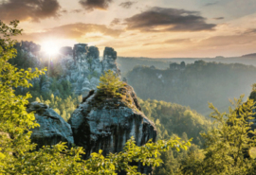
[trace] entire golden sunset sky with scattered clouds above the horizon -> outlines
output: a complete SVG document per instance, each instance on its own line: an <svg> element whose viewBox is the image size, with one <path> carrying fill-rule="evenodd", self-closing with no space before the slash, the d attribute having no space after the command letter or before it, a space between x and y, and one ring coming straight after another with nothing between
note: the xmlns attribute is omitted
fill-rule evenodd
<svg viewBox="0 0 256 175"><path fill-rule="evenodd" d="M235 57L256 52L255 0L0 0L17 40L113 47L119 56Z"/></svg>

